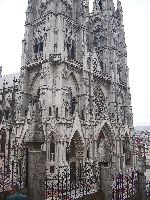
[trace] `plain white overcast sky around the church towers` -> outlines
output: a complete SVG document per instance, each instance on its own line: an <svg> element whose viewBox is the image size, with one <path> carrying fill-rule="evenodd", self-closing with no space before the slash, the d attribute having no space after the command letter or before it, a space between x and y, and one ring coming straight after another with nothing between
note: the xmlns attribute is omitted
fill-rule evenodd
<svg viewBox="0 0 150 200"><path fill-rule="evenodd" d="M18 72L28 0L0 0L0 65ZM121 0L134 125L150 125L150 0ZM90 0L92 8L93 0Z"/></svg>

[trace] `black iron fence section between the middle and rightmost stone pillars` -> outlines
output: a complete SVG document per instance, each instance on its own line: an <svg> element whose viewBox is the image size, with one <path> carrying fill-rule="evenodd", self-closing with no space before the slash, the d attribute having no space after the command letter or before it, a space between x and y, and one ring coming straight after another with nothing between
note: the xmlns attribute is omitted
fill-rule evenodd
<svg viewBox="0 0 150 200"><path fill-rule="evenodd" d="M112 183L112 200L125 200L133 197L138 191L138 173L127 170L116 174Z"/></svg>

